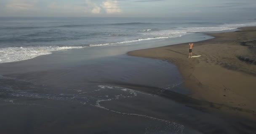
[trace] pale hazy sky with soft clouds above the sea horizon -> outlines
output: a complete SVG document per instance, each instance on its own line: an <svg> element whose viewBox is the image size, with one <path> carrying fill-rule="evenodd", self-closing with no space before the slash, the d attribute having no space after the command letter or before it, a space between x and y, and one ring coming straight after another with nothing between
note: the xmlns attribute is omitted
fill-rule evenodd
<svg viewBox="0 0 256 134"><path fill-rule="evenodd" d="M0 0L0 16L256 18L256 0Z"/></svg>

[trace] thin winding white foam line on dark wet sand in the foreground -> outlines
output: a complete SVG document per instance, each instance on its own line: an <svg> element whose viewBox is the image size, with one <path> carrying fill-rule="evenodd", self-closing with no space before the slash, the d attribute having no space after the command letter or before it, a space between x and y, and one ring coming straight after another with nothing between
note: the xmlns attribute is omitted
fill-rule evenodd
<svg viewBox="0 0 256 134"><path fill-rule="evenodd" d="M132 96L125 96L123 94L116 95L116 97L118 96L117 98L108 98L108 99L98 100L98 101L96 101L96 104L94 106L96 106L98 108L102 108L102 109L107 110L107 111L114 112L114 113L123 114L123 115L138 116L138 117L143 117L143 118L152 119L152 120L156 120L156 121L162 121L166 125L170 126L170 127L168 127L169 129L172 129L170 131L175 131L175 134L178 134L178 133L182 134L182 131L184 130L184 126L181 125L181 124L177 124L176 122L168 121L168 120L164 120L164 119L158 119L158 118L155 118L155 117L141 115L141 114L136 114L136 113L124 113L124 112L114 111L114 110L111 110L109 108L106 108L106 107L100 105L101 102L117 100L120 97L121 98L136 97L137 96L137 93L136 93L137 91L131 90L131 89L128 89L128 88L122 88L122 87L116 87L116 86L107 86L107 85L99 85L98 87L100 87L102 89L106 89L106 88L107 89L119 89L119 90L122 90L123 92L128 92L128 94L131 94ZM141 93L141 92L138 92L138 93ZM149 94L147 94L147 95L149 95ZM93 105L91 105L91 106L93 106Z"/></svg>

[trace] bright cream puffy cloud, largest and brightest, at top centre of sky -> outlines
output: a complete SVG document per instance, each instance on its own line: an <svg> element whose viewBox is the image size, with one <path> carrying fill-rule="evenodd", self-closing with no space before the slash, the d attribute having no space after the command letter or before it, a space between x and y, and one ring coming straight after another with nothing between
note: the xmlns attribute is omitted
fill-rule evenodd
<svg viewBox="0 0 256 134"><path fill-rule="evenodd" d="M122 12L117 0L106 0L101 4L101 7L104 8L108 14Z"/></svg>

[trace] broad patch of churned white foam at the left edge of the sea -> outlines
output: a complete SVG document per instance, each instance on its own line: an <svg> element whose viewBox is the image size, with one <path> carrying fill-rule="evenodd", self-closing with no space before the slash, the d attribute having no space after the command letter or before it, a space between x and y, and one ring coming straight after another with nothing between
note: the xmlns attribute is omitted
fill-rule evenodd
<svg viewBox="0 0 256 134"><path fill-rule="evenodd" d="M34 46L0 48L0 63L32 59L40 55L51 54L53 51L80 49L83 47L85 46Z"/></svg>

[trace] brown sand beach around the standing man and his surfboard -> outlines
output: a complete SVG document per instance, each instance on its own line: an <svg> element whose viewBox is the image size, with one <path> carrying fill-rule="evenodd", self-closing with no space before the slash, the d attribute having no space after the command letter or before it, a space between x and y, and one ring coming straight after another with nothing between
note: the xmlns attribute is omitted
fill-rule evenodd
<svg viewBox="0 0 256 134"><path fill-rule="evenodd" d="M206 33L213 39L194 43L188 58L188 44L175 44L128 52L130 56L167 60L176 65L189 89L189 97L256 111L256 27L240 31ZM254 46L253 46L254 45Z"/></svg>

